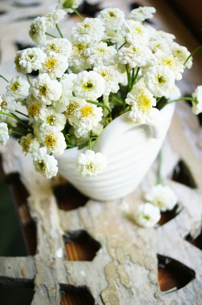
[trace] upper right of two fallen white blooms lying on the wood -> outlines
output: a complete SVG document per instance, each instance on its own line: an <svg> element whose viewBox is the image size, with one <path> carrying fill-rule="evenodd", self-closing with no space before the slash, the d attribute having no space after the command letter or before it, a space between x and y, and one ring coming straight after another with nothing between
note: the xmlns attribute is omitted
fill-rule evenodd
<svg viewBox="0 0 202 305"><path fill-rule="evenodd" d="M145 199L158 206L162 212L172 210L178 201L173 190L168 186L162 185L152 187L149 192L145 194Z"/></svg>

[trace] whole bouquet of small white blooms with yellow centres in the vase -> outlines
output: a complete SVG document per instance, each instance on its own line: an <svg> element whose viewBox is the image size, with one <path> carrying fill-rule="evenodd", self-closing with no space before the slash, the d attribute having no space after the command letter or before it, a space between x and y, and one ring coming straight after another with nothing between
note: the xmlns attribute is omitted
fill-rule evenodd
<svg viewBox="0 0 202 305"><path fill-rule="evenodd" d="M33 20L29 35L39 46L17 51L14 60L25 77L7 81L1 75L8 85L0 97L0 145L16 134L23 153L32 154L36 171L47 178L58 171L54 156L76 146L89 146L75 165L81 175L102 173L107 161L94 153L93 141L123 113L137 124L150 124L165 105L185 99L192 101L195 114L202 111L202 86L192 97L180 98L175 85L184 69L191 68L195 51L174 42L174 35L144 24L154 8L134 9L127 19L121 10L107 8L83 20L76 10L81 2L59 0L56 10ZM73 12L81 22L73 26L69 41L58 22ZM54 27L60 37L47 32ZM32 71L39 76L30 81ZM27 114L17 111L16 103Z"/></svg>

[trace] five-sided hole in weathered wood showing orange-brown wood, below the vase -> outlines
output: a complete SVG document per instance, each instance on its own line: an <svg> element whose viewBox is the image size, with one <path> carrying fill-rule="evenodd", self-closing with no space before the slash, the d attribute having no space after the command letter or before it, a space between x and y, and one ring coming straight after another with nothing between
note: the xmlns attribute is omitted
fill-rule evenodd
<svg viewBox="0 0 202 305"><path fill-rule="evenodd" d="M69 261L92 261L101 248L100 243L86 231L69 232L64 241L66 260Z"/></svg>

